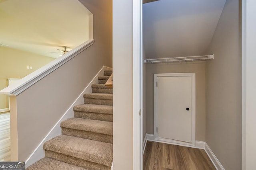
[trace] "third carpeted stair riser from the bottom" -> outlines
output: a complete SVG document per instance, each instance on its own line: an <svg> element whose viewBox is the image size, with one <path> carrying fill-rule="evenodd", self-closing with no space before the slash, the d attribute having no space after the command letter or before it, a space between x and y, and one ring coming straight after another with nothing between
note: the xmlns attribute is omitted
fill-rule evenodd
<svg viewBox="0 0 256 170"><path fill-rule="evenodd" d="M113 115L104 114L104 113L74 111L74 117L83 118L83 119L101 120L101 121L113 121Z"/></svg>

